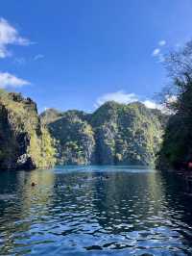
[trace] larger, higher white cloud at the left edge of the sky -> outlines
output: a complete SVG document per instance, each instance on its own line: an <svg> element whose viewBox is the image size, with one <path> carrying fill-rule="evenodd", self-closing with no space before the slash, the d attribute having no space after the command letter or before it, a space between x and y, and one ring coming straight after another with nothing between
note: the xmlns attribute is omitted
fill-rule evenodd
<svg viewBox="0 0 192 256"><path fill-rule="evenodd" d="M8 45L29 45L30 40L19 36L18 31L4 18L0 18L0 58L11 56Z"/></svg>

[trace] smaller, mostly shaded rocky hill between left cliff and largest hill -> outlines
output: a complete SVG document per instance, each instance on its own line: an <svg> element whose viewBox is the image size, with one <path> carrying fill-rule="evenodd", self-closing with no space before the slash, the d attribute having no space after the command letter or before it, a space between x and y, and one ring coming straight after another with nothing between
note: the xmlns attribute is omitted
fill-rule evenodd
<svg viewBox="0 0 192 256"><path fill-rule="evenodd" d="M49 128L57 141L59 164L88 165L93 161L93 131L77 112L65 113L50 123Z"/></svg>

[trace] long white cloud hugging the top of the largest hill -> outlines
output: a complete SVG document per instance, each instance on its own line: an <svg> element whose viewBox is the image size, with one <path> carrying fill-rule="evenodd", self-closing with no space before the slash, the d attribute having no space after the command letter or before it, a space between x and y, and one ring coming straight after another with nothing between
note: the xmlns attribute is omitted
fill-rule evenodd
<svg viewBox="0 0 192 256"><path fill-rule="evenodd" d="M109 92L102 96L100 96L96 103L94 104L95 108L100 107L107 101L115 101L121 104L129 104L135 101L139 101L143 103L147 108L150 109L162 109L160 104L157 104L155 101L151 99L143 99L143 97L136 95L134 93L127 93L124 90L118 90L115 92Z"/></svg>

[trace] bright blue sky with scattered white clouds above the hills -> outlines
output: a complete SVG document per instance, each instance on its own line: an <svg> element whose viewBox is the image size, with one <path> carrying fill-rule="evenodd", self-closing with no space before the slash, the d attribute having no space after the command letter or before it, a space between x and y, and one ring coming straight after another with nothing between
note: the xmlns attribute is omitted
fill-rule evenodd
<svg viewBox="0 0 192 256"><path fill-rule="evenodd" d="M191 0L2 0L0 88L42 112L108 100L156 107L163 55L192 38Z"/></svg>

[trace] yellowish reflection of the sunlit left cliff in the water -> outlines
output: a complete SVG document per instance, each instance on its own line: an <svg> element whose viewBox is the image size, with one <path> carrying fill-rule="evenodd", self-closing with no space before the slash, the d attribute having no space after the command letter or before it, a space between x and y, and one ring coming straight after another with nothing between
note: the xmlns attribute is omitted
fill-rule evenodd
<svg viewBox="0 0 192 256"><path fill-rule="evenodd" d="M6 222L0 223L0 233L5 233L2 237L4 246L0 250L1 255L7 255L8 251L10 254L15 243L22 243L22 234L25 233L25 238L30 237L28 232L32 225L42 222L49 214L55 182L54 172L51 170L19 171L7 178L10 179L8 188L11 192L7 194L5 205L1 205L0 201L0 206L4 208L1 209L0 220L6 219ZM32 182L36 183L36 187L32 187ZM12 234L18 235L13 237Z"/></svg>

